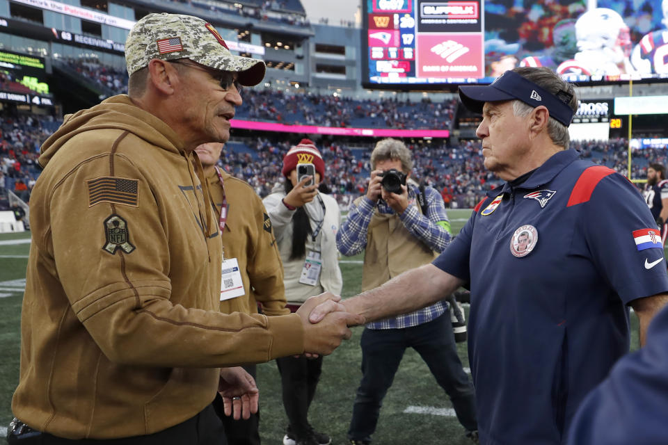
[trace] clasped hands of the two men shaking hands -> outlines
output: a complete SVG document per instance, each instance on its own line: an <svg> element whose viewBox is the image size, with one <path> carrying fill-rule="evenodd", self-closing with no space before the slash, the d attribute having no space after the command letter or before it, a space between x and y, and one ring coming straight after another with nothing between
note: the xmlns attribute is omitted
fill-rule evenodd
<svg viewBox="0 0 668 445"><path fill-rule="evenodd" d="M352 335L349 326L361 325L363 316L352 314L341 297L325 292L311 297L297 310L304 327L304 355L328 355Z"/></svg>

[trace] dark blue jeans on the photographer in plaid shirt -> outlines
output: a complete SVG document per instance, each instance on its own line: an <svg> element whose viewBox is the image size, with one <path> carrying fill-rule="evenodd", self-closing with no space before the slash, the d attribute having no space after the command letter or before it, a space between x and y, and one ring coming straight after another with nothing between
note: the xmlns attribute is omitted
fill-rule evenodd
<svg viewBox="0 0 668 445"><path fill-rule="evenodd" d="M450 396L459 423L466 430L477 430L473 385L457 355L448 314L404 329L365 328L360 340L363 377L353 405L349 439L371 441L383 398L406 348L415 349L427 363L438 385Z"/></svg>

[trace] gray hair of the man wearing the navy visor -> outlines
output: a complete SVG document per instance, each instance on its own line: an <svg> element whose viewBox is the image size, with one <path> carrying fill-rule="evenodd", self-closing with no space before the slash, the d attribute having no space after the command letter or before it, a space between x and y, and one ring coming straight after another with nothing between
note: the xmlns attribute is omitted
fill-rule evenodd
<svg viewBox="0 0 668 445"><path fill-rule="evenodd" d="M523 76L525 79L536 83L536 85L544 90L551 92L552 95L559 97L559 92L566 92L568 95L571 95L571 100L566 105L570 106L574 113L578 111L578 97L575 96L575 88L573 87L573 84L564 81L564 79L555 74L550 68L518 67L513 71L520 76ZM513 114L520 118L529 115L533 109L534 107L525 104L520 100L513 101ZM550 136L552 143L564 147L564 149L568 149L568 145L571 143L568 127L551 116L550 120L548 120L548 136Z"/></svg>

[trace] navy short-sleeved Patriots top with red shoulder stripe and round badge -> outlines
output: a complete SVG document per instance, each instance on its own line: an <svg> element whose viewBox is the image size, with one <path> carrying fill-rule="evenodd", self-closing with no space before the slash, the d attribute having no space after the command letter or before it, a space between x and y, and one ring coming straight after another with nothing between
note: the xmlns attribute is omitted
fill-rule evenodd
<svg viewBox="0 0 668 445"><path fill-rule="evenodd" d="M470 285L482 444L565 442L580 401L628 352L628 302L668 291L662 258L637 189L573 150L488 193L434 260Z"/></svg>

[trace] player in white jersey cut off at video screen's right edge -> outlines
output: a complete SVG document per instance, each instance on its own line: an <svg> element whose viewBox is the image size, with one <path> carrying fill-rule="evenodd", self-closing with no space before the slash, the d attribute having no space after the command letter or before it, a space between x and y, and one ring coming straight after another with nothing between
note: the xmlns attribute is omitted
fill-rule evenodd
<svg viewBox="0 0 668 445"><path fill-rule="evenodd" d="M661 2L664 29L644 35L633 48L631 63L642 74L668 74L668 0Z"/></svg>

